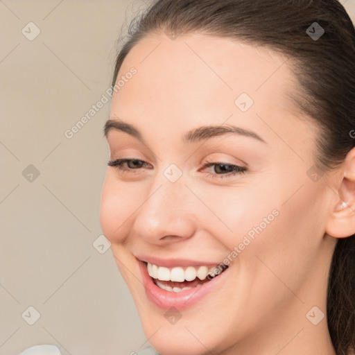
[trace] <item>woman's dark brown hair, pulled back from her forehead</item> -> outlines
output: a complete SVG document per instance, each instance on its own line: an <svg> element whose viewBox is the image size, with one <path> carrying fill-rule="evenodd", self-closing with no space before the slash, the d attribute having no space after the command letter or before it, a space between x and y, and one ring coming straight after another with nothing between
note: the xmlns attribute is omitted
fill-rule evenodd
<svg viewBox="0 0 355 355"><path fill-rule="evenodd" d="M324 34L311 38L317 22ZM315 29L311 27L311 31ZM338 168L355 146L355 30L337 0L155 0L131 22L114 67L149 33L205 33L266 46L291 58L296 107L316 123L315 166ZM355 347L355 234L339 239L328 279L327 322L337 355Z"/></svg>

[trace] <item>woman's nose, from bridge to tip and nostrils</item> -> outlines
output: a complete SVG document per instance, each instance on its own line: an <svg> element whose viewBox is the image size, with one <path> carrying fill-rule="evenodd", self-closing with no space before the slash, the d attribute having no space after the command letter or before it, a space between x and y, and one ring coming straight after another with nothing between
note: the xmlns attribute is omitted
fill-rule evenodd
<svg viewBox="0 0 355 355"><path fill-rule="evenodd" d="M164 176L156 179L142 198L144 202L133 225L134 235L159 245L191 238L198 220L198 206L193 197L183 178L176 182L170 182Z"/></svg>

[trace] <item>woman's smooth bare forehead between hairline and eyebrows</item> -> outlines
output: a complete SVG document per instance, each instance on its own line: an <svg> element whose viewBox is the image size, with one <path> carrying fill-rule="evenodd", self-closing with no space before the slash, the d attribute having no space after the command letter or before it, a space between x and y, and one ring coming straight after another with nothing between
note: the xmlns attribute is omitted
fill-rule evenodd
<svg viewBox="0 0 355 355"><path fill-rule="evenodd" d="M296 119L287 95L297 88L290 64L266 47L226 38L148 35L123 61L117 80L132 67L137 73L114 93L110 115L138 126L144 123L152 135L160 129L178 134L227 120L260 132L266 128L262 121L276 129L282 120L278 134L286 137L292 134L286 119L300 129L305 124ZM239 97L246 98L247 111L238 106ZM272 138L272 132L267 134Z"/></svg>

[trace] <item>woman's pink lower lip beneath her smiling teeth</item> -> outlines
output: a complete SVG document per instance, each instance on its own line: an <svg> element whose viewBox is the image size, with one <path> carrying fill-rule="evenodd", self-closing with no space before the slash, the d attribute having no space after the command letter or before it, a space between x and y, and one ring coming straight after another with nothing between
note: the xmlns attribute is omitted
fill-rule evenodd
<svg viewBox="0 0 355 355"><path fill-rule="evenodd" d="M154 282L152 277L148 274L146 264L139 261L139 268L141 269L141 275L143 277L144 288L146 289L146 295L148 299L153 302L156 306L162 309L187 309L193 304L196 304L202 299L207 293L210 293L215 288L220 287L225 280L225 273L229 270L225 270L222 274L218 275L209 282L205 282L198 287L190 288L189 290L184 290L180 292L171 292L163 290L158 287Z"/></svg>

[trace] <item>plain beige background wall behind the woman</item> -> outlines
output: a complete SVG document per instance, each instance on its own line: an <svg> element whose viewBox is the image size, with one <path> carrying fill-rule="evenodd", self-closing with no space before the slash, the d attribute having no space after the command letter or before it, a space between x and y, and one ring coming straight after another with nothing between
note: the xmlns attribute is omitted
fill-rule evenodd
<svg viewBox="0 0 355 355"><path fill-rule="evenodd" d="M355 0L342 2L355 19ZM121 26L143 9L138 0L0 0L0 355L36 344L128 355L148 345L110 249L93 245L110 102L64 136L110 87ZM35 33L30 21L40 28L32 41L21 33ZM33 325L29 306L40 313Z"/></svg>

